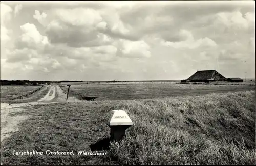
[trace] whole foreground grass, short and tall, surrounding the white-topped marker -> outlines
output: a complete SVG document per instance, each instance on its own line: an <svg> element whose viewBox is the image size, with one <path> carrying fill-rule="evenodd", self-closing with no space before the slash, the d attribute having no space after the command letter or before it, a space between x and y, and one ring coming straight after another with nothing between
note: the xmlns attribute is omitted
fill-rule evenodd
<svg viewBox="0 0 256 166"><path fill-rule="evenodd" d="M103 120L112 109L125 110L134 121L125 139L105 147L105 156L77 155L108 143ZM255 91L36 105L17 114L32 117L1 143L6 165L256 163ZM13 150L75 155L13 155Z"/></svg>

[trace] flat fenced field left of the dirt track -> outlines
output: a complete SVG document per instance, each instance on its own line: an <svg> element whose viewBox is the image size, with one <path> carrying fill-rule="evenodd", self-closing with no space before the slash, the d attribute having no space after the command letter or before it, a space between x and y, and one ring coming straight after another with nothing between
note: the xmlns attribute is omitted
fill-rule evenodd
<svg viewBox="0 0 256 166"><path fill-rule="evenodd" d="M19 85L0 86L1 102L6 100L12 100L17 95L25 95L40 87L41 86L19 86Z"/></svg>

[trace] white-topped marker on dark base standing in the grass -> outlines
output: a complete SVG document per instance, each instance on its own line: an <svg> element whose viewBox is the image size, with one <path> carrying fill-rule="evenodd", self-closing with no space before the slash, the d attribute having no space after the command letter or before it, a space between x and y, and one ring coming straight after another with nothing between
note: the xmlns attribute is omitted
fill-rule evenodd
<svg viewBox="0 0 256 166"><path fill-rule="evenodd" d="M112 110L106 117L105 123L110 127L111 140L115 141L120 141L125 135L125 130L133 125L124 110Z"/></svg>

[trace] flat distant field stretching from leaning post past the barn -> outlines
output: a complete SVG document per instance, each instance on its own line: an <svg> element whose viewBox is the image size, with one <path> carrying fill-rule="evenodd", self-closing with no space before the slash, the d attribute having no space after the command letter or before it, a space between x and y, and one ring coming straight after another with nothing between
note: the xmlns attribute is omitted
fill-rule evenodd
<svg viewBox="0 0 256 166"><path fill-rule="evenodd" d="M67 92L68 87L62 87L62 89ZM96 100L126 100L255 90L255 86L157 84L151 82L144 84L74 84L70 86L70 90L70 95L98 97Z"/></svg>

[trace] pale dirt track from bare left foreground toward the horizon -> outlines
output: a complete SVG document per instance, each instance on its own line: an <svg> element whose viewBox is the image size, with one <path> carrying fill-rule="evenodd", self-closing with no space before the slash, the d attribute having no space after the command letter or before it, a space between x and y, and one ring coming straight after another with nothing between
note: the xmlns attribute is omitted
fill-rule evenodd
<svg viewBox="0 0 256 166"><path fill-rule="evenodd" d="M41 98L37 102L29 102L29 103L19 103L19 104L7 104L1 103L1 142L6 137L11 136L11 134L18 130L16 127L18 123L23 120L29 118L29 116L24 115L14 115L18 112L24 110L26 106L38 105L38 104L50 104L56 102L50 102L55 97L55 86L51 86L48 93L45 97ZM13 115L13 116L12 116Z"/></svg>

